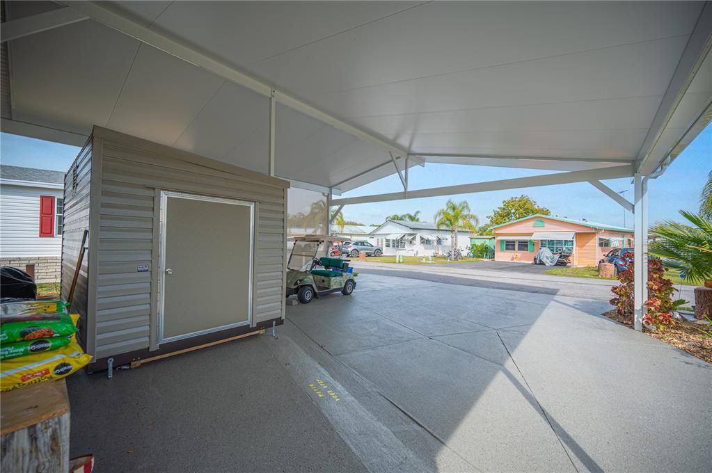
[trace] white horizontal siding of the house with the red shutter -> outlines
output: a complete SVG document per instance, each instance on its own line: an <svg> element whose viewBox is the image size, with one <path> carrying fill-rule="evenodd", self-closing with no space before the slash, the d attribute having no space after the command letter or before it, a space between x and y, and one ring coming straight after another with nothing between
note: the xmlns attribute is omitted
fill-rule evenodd
<svg viewBox="0 0 712 473"><path fill-rule="evenodd" d="M62 189L0 186L0 257L60 256L62 236L40 238L40 196L62 198Z"/></svg>

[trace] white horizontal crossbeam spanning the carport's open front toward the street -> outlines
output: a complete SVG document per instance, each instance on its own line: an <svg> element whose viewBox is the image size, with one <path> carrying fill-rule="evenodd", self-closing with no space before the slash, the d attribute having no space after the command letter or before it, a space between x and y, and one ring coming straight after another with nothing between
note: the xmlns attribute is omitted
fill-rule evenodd
<svg viewBox="0 0 712 473"><path fill-rule="evenodd" d="M422 198L436 196L453 196L460 193L476 193L488 191L501 191L503 189L517 189L525 187L551 186L553 184L570 184L599 179L617 179L633 175L633 166L615 166L602 169L587 169L586 171L571 171L542 176L519 177L516 179L503 179L501 181L478 182L476 184L461 184L417 191L382 193L376 196L361 196L340 198L332 201L332 205L348 205L353 203L371 203L384 201L400 201L405 198Z"/></svg>

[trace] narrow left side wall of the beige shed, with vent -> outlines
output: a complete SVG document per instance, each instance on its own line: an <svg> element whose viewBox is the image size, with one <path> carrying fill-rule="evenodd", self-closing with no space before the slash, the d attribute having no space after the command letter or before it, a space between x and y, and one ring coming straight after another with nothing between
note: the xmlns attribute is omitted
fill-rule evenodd
<svg viewBox="0 0 712 473"><path fill-rule="evenodd" d="M69 289L72 284L72 278L74 277L84 230L89 229L92 153L92 145L91 142L89 142L78 154L77 159L75 159L70 166L69 172L64 178L62 298L65 300L69 296ZM74 172L74 169L76 169L76 172ZM75 181L76 185L74 185ZM74 292L72 312L81 315L79 319L80 331L78 334L80 344L89 354L93 355L93 341L90 341L86 336L87 321L94 315L90 313L88 306L88 267L89 256L85 254L77 280L77 287Z"/></svg>

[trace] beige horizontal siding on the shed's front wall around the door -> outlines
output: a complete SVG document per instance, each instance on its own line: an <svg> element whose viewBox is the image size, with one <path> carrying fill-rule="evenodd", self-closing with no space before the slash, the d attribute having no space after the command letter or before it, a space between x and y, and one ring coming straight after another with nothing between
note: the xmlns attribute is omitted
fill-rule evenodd
<svg viewBox="0 0 712 473"><path fill-rule="evenodd" d="M109 139L103 139L101 159L97 358L152 345L156 189L256 203L252 323L283 317L283 188ZM149 271L137 272L138 265L148 265Z"/></svg>

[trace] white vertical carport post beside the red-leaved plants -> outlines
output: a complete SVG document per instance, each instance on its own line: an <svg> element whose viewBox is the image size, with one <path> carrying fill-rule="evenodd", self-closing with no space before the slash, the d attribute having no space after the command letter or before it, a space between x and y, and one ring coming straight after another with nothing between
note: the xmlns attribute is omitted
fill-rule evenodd
<svg viewBox="0 0 712 473"><path fill-rule="evenodd" d="M633 264L634 264L634 323L635 329L641 331L643 328L643 317L646 312L646 307L644 302L648 299L648 285L647 285L647 266L648 266L648 256L647 251L647 216L646 213L648 209L646 204L647 198L647 181L644 179L642 174L635 174L634 176L634 200L635 200L635 213L634 213L634 250L633 250Z"/></svg>

